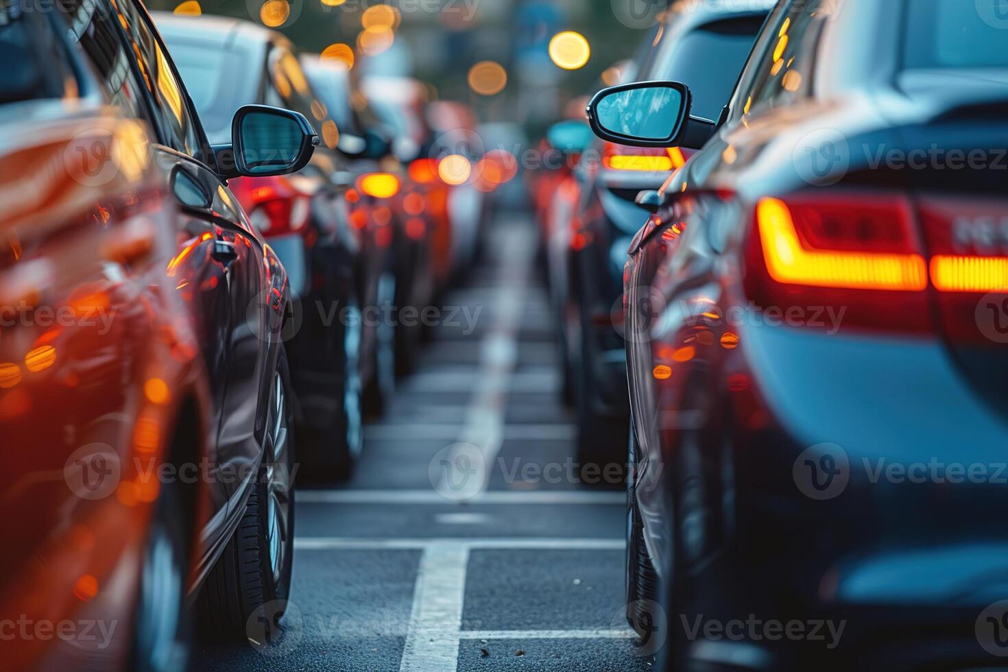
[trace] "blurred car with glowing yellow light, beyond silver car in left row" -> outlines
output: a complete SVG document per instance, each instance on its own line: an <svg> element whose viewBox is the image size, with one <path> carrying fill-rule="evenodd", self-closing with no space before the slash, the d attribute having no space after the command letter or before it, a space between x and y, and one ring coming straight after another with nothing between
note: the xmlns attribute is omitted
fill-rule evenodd
<svg viewBox="0 0 1008 672"><path fill-rule="evenodd" d="M301 63L319 100L340 129L338 147L351 157L348 173L338 176L354 187L352 210L367 221L381 209L391 213L395 227L395 368L405 375L416 364L421 321L415 316L433 301L435 291L432 246L436 223L429 217L420 185L392 153L391 129L379 121L366 96L355 86L350 71L339 60L301 54ZM411 313L410 311L414 311Z"/></svg>

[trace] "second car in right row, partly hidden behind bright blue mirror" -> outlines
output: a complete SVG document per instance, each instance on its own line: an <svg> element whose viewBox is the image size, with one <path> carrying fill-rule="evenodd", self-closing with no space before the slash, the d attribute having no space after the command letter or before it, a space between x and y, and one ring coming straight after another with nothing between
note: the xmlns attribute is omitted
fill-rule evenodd
<svg viewBox="0 0 1008 672"><path fill-rule="evenodd" d="M654 48L645 47L639 68L629 69L626 81L682 81L695 91L696 114L717 119L772 4L764 0L673 5L665 13L662 29L648 43ZM594 160L583 162L576 171L581 204L568 261L570 305L561 317L577 375L579 458L622 462L628 408L624 345L618 330L623 259L647 217L634 198L641 189L660 186L671 170L682 165L689 149L605 141L590 151Z"/></svg>

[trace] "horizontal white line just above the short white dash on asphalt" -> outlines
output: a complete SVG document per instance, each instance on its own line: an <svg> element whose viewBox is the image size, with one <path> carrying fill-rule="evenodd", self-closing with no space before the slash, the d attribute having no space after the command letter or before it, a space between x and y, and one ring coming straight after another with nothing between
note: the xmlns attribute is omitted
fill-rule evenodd
<svg viewBox="0 0 1008 672"><path fill-rule="evenodd" d="M626 505L626 495L606 491L483 491L470 500L452 501L432 490L299 490L298 504L466 504L507 505Z"/></svg>

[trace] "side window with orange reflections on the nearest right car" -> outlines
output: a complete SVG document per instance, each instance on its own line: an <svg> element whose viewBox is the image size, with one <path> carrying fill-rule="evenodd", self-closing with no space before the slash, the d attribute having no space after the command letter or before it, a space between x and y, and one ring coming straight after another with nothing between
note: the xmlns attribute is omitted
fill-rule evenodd
<svg viewBox="0 0 1008 672"><path fill-rule="evenodd" d="M760 60L750 65L757 70L749 80L744 114L789 105L809 95L815 63L814 49L807 46L818 40L836 6L836 0L790 0L775 25L767 25L770 41Z"/></svg>

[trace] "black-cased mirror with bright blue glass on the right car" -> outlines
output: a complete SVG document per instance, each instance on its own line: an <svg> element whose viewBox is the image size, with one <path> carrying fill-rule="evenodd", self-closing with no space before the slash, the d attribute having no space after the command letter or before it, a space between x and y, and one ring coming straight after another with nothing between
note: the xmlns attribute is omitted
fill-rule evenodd
<svg viewBox="0 0 1008 672"><path fill-rule="evenodd" d="M635 82L603 89L588 104L588 121L603 140L637 147L700 149L713 121L689 116L689 88L678 82Z"/></svg>

